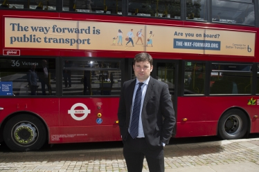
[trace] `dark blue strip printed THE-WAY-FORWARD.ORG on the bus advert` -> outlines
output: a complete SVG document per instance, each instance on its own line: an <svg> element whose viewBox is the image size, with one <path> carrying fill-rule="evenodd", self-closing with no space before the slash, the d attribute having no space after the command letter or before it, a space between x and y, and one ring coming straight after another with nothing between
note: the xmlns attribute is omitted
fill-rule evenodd
<svg viewBox="0 0 259 172"><path fill-rule="evenodd" d="M220 50L220 41L174 39L174 48L195 50Z"/></svg>

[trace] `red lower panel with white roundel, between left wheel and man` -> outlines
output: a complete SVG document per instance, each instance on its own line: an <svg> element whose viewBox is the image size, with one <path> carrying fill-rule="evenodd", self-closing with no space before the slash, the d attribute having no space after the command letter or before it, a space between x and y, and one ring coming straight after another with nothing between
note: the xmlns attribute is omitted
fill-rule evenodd
<svg viewBox="0 0 259 172"><path fill-rule="evenodd" d="M100 142L120 139L117 112L118 98L61 98L60 127L50 128L50 142ZM73 104L82 103L91 111L84 120L74 120L68 113ZM100 106L100 109L98 109ZM82 107L75 108L82 110ZM98 117L98 114L101 115ZM82 114L78 114L82 117ZM96 120L102 119L98 124Z"/></svg>

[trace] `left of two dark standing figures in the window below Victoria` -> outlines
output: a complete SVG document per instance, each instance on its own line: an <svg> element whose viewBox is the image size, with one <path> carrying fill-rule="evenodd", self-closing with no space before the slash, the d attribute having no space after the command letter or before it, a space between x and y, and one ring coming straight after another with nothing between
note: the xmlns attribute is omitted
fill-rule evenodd
<svg viewBox="0 0 259 172"><path fill-rule="evenodd" d="M30 70L28 70L27 80L28 85L30 87L30 95L36 95L37 90L37 73L35 71L36 64L30 66Z"/></svg>

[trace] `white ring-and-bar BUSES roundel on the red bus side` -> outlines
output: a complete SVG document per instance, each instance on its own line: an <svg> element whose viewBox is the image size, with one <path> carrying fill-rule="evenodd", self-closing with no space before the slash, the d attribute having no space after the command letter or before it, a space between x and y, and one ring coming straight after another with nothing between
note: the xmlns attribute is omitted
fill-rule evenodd
<svg viewBox="0 0 259 172"><path fill-rule="evenodd" d="M77 107L82 107L84 109L75 110L75 108L77 108ZM71 107L71 109L69 110L69 114L71 115L71 117L73 117L73 119L77 120L77 121L84 120L89 113L91 113L91 111L87 108L87 106L85 104L81 104L81 103L74 104ZM82 115L82 117L77 117L75 114L84 114L84 115Z"/></svg>

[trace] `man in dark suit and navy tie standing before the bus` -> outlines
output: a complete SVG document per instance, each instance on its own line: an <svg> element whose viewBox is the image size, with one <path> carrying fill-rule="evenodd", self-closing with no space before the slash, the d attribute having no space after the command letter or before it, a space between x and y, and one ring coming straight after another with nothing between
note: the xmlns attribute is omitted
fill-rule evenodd
<svg viewBox="0 0 259 172"><path fill-rule="evenodd" d="M135 56L133 69L136 79L123 84L118 108L127 170L142 171L145 157L150 171L162 172L163 146L175 126L168 85L150 77L152 57L146 52Z"/></svg>

